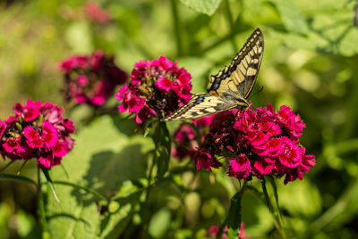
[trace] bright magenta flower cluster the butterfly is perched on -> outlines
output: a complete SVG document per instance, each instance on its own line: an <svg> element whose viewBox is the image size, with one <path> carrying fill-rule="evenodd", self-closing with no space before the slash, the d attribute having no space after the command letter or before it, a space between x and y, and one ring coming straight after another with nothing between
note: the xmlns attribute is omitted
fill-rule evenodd
<svg viewBox="0 0 358 239"><path fill-rule="evenodd" d="M285 184L303 178L314 164L314 155L306 155L299 144L305 124L286 105L274 111L272 105L218 114L197 155L197 169L220 167L215 155L225 156L228 175L239 179L262 179L271 174L286 175Z"/></svg>

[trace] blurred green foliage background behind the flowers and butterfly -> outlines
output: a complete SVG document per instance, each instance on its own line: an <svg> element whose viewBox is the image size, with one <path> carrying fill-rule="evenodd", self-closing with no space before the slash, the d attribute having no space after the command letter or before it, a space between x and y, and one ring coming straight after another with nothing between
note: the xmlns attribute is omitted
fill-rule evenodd
<svg viewBox="0 0 358 239"><path fill-rule="evenodd" d="M193 92L204 92L209 75L229 63L251 31L260 28L265 51L254 92L264 90L252 94L253 106L289 105L306 123L301 143L316 155L316 166L303 181L277 182L287 237L358 237L355 1L98 1L111 15L105 23L91 20L85 4L0 2L0 119L27 99L63 105L56 64L96 49L114 54L127 72L134 62L166 55L192 74ZM152 189L149 200L131 194L146 176L153 145L135 134L130 121L122 125L116 116L103 116L81 128L76 148L64 158L69 177L60 167L51 170L52 178L115 195L114 208L100 215L101 203L89 194L57 185L58 205L48 191L53 238L203 238L207 228L224 221L239 184L223 171L214 177L206 171L173 173ZM179 163L172 159L171 164ZM6 173L20 167L16 162ZM27 164L21 175L36 178L35 164ZM251 185L260 188L257 180ZM2 180L0 188L0 238L38 238L36 187ZM244 194L243 222L252 238L279 238L255 194Z"/></svg>

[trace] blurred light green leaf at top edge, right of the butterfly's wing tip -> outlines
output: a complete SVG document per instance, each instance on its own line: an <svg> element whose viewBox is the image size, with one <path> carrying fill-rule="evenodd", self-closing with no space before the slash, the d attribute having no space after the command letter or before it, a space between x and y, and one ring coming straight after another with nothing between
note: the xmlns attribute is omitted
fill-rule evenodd
<svg viewBox="0 0 358 239"><path fill-rule="evenodd" d="M287 0L270 0L272 4L275 4L278 12L281 15L281 19L287 30L305 34L308 26L305 21L303 12L294 4L294 1Z"/></svg>

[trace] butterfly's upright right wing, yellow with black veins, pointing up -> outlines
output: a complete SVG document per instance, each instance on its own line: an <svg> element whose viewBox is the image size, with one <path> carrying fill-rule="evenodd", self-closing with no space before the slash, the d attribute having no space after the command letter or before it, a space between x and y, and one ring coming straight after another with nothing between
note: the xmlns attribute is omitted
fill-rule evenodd
<svg viewBox="0 0 358 239"><path fill-rule="evenodd" d="M216 75L210 77L207 91L222 96L228 91L247 99L251 94L260 70L263 54L263 35L256 29L232 62Z"/></svg>

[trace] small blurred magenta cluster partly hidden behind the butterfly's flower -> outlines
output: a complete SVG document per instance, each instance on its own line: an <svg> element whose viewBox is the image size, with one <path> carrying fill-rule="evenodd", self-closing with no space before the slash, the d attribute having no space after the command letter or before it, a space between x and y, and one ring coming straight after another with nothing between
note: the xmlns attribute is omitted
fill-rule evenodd
<svg viewBox="0 0 358 239"><path fill-rule="evenodd" d="M200 119L192 119L192 124L197 128L200 134L200 141L204 140L204 136L209 132L214 115L209 115ZM182 123L176 130L173 139L172 155L180 161L185 157L195 158L199 148L197 131L192 128L191 124Z"/></svg>

